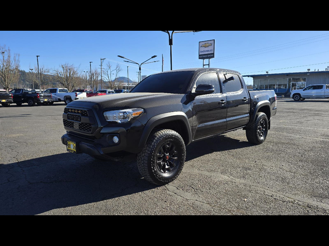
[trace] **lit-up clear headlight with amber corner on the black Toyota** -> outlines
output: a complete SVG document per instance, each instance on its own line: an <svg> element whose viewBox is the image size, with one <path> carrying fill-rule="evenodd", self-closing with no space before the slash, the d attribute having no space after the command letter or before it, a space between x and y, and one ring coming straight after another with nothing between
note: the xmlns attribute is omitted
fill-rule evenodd
<svg viewBox="0 0 329 246"><path fill-rule="evenodd" d="M143 109L122 109L105 111L104 117L106 121L113 121L118 123L128 122L144 113Z"/></svg>

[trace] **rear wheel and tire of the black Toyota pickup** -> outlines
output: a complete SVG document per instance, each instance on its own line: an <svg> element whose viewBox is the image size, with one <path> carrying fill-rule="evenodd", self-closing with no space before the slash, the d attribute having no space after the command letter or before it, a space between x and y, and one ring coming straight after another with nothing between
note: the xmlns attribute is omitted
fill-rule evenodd
<svg viewBox="0 0 329 246"><path fill-rule="evenodd" d="M246 129L246 136L252 144L260 145L266 139L268 133L268 119L265 113L259 112L253 124Z"/></svg>

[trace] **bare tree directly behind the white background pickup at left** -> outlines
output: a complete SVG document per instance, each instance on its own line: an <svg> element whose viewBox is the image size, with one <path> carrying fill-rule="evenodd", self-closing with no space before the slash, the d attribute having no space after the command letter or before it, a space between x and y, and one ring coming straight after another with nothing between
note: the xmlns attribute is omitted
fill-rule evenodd
<svg viewBox="0 0 329 246"><path fill-rule="evenodd" d="M75 89L79 77L78 68L73 65L62 64L61 68L54 70L53 75L56 76L57 81L69 92Z"/></svg>

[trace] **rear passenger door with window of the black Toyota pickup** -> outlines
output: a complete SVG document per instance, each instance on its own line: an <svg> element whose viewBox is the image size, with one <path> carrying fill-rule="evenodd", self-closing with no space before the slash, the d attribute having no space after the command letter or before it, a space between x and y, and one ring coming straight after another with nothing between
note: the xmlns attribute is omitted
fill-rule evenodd
<svg viewBox="0 0 329 246"><path fill-rule="evenodd" d="M221 80L227 99L227 130L247 125L250 98L244 81L235 73L222 73Z"/></svg>

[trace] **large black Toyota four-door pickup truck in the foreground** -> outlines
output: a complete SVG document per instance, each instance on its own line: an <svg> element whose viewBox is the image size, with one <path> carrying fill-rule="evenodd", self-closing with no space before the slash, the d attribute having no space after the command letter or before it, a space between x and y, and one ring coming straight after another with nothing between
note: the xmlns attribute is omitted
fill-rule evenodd
<svg viewBox="0 0 329 246"><path fill-rule="evenodd" d="M262 144L276 112L275 92L248 92L239 72L174 70L148 76L131 93L72 101L62 143L96 159L136 154L141 175L165 185L181 172L191 142L244 129Z"/></svg>

